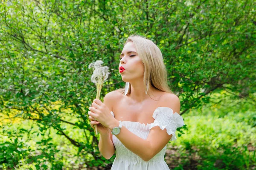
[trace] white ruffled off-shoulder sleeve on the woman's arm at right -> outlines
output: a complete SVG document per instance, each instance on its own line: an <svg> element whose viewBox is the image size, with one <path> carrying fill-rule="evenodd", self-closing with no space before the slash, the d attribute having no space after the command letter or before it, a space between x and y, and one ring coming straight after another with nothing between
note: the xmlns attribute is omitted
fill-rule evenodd
<svg viewBox="0 0 256 170"><path fill-rule="evenodd" d="M155 120L149 129L155 126L159 126L162 130L166 128L167 133L172 134L171 141L177 139L175 136L177 128L185 125L182 116L177 112L173 113L173 110L168 107L158 107L153 113L153 118Z"/></svg>

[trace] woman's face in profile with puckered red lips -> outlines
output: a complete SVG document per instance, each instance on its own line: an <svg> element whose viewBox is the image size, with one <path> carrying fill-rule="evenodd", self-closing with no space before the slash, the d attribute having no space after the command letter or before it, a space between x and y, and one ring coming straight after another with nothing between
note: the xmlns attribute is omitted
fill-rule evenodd
<svg viewBox="0 0 256 170"><path fill-rule="evenodd" d="M124 71L119 70L124 82L143 79L144 65L137 54L133 42L128 42L120 55L119 68L122 66Z"/></svg>

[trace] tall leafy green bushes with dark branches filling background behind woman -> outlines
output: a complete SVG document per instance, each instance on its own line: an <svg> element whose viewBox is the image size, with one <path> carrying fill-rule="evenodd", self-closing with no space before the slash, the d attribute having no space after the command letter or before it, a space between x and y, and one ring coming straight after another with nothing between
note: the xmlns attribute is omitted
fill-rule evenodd
<svg viewBox="0 0 256 170"><path fill-rule="evenodd" d="M21 159L38 169L61 169L79 161L83 166L110 164L113 159L100 155L99 136L87 119L96 97L88 65L101 59L111 69L102 96L122 87L119 54L131 34L160 47L169 85L181 101L180 114L200 109L210 102L212 92L223 89L223 96L255 101L254 6L254 0L2 0L0 149L10 150L0 153L0 164L11 168ZM252 123L246 116L239 120ZM17 129L8 129L10 122ZM14 131L16 136L11 136ZM37 143L27 145L24 136L26 142ZM20 155L19 147L26 152Z"/></svg>

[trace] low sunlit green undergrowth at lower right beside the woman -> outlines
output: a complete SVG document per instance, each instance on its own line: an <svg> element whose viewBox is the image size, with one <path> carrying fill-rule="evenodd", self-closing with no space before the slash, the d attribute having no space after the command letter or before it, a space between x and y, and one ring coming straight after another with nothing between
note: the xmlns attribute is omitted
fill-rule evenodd
<svg viewBox="0 0 256 170"><path fill-rule="evenodd" d="M255 117L255 108L241 112L241 107L250 105L240 105L239 109L221 117L221 110L230 105L232 103L208 104L201 111L186 115L188 130L169 147L178 147L177 153L180 153L181 161L175 170L250 170L256 165L256 129L255 120L251 120Z"/></svg>

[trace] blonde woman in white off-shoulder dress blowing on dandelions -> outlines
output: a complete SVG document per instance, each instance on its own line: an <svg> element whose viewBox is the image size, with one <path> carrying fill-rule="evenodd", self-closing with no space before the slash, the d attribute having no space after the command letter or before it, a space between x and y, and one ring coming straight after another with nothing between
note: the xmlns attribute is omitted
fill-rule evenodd
<svg viewBox="0 0 256 170"><path fill-rule="evenodd" d="M128 37L120 55L119 72L125 89L108 93L104 103L94 99L90 125L100 133L99 150L111 170L169 170L166 145L184 125L180 100L167 84L160 49L138 35Z"/></svg>

